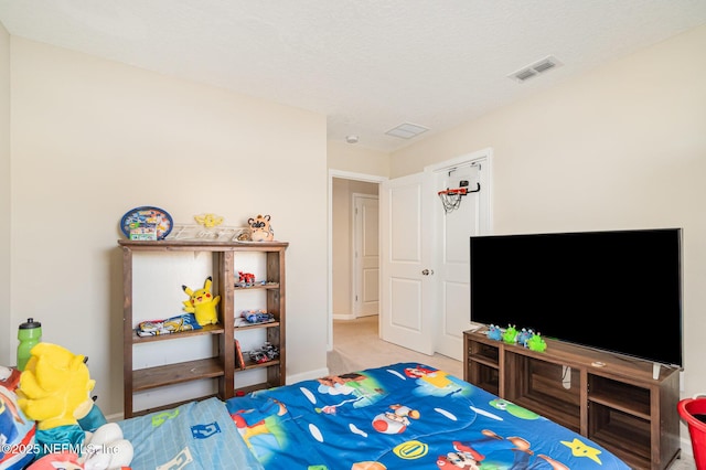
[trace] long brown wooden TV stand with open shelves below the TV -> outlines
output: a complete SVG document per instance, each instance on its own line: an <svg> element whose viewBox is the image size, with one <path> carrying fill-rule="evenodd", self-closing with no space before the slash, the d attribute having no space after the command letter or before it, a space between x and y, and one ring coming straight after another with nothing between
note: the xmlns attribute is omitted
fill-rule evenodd
<svg viewBox="0 0 706 470"><path fill-rule="evenodd" d="M463 378L603 446L633 469L680 457L678 370L545 340L545 352L463 333ZM656 346L659 348L659 346Z"/></svg>

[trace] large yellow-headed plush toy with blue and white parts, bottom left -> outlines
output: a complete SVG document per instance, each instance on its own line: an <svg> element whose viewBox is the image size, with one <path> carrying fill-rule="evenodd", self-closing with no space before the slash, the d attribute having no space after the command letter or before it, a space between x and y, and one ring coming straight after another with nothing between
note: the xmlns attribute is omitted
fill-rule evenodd
<svg viewBox="0 0 706 470"><path fill-rule="evenodd" d="M95 406L89 394L96 382L88 374L85 356L51 343L36 344L30 354L20 376L18 405L36 421L38 463L60 458L53 455L68 449L82 469L129 466L132 445L122 438L117 424L105 424L94 432L79 425Z"/></svg>

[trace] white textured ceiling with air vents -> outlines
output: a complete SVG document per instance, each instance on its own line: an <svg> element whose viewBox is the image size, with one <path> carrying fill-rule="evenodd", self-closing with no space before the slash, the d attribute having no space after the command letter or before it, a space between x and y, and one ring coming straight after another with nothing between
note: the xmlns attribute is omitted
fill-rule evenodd
<svg viewBox="0 0 706 470"><path fill-rule="evenodd" d="M706 23L706 0L0 0L10 34L322 113L407 146ZM522 84L507 75L554 56ZM406 140L386 136L411 122Z"/></svg>

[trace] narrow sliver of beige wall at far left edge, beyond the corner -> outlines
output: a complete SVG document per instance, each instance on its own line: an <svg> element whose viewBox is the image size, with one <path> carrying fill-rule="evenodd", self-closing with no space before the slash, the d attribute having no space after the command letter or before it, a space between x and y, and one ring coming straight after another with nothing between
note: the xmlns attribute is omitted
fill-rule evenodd
<svg viewBox="0 0 706 470"><path fill-rule="evenodd" d="M17 335L10 320L10 35L0 23L0 331ZM0 341L0 357L9 359L15 341ZM0 361L0 364L9 362Z"/></svg>

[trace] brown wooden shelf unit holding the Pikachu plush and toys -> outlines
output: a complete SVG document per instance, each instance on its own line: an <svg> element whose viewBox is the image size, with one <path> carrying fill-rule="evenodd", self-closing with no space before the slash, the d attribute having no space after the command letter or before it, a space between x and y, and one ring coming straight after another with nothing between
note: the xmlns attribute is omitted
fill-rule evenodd
<svg viewBox="0 0 706 470"><path fill-rule="evenodd" d="M288 243L264 242L264 243L224 243L224 242L183 242L183 241L159 241L138 242L118 241L122 248L122 286L124 286L124 416L145 415L159 409L167 409L178 406L184 402L164 403L159 407L149 409L133 409L133 395L153 388L173 386L193 381L215 380L217 381L217 394L221 399L235 396L236 391L252 392L260 388L270 388L285 384L286 380L286 344L285 344L285 318L286 318L286 296L285 296L285 250ZM138 337L135 329L137 322L132 316L132 269L133 254L141 252L170 253L170 252L192 252L211 253L213 260L213 285L212 291L221 296L218 310L218 324L206 325L200 330L186 331L158 337ZM257 253L265 257L266 285L253 287L235 286L235 265L238 254ZM159 279L154 280L156 282ZM275 316L275 321L270 323L247 325L235 328L235 297L245 291L260 290L266 292L266 305L261 306ZM164 314L163 318L173 314ZM156 316L158 317L158 316ZM245 370L236 366L235 361L235 337L247 331L266 331L266 341L278 346L279 357L274 361L248 364ZM135 346L147 343L160 343L163 341L180 341L194 337L210 335L213 339L213 350L215 353L211 357L184 361L173 364L160 365L133 370ZM171 343L173 344L173 343ZM258 384L247 384L238 386L237 374L248 370L266 370L266 380ZM194 397L203 399L214 395Z"/></svg>

